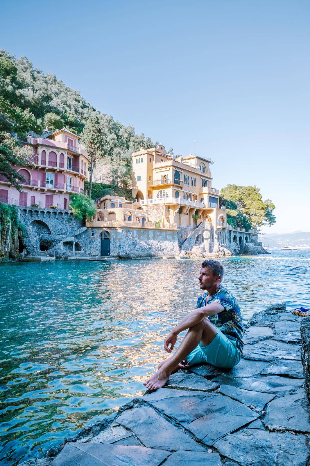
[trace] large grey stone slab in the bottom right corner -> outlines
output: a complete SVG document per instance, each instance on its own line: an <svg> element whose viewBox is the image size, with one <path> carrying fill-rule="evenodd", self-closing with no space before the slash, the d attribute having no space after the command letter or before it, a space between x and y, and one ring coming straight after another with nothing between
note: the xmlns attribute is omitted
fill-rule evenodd
<svg viewBox="0 0 310 466"><path fill-rule="evenodd" d="M309 454L303 435L261 429L242 429L214 446L241 466L305 466Z"/></svg>

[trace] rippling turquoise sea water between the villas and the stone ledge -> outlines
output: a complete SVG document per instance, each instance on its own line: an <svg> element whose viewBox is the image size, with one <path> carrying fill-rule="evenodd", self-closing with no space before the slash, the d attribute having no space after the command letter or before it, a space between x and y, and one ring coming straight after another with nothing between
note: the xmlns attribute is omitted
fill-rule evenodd
<svg viewBox="0 0 310 466"><path fill-rule="evenodd" d="M201 260L0 263L0 464L40 456L113 415L166 355L201 294ZM223 259L244 319L310 308L310 250Z"/></svg>

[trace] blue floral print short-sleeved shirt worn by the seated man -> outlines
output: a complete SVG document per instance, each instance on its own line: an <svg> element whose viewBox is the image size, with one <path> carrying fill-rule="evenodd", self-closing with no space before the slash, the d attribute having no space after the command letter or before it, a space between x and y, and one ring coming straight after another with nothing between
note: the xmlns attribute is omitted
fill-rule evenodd
<svg viewBox="0 0 310 466"><path fill-rule="evenodd" d="M208 297L208 292L199 296L197 307L202 308L211 302L219 302L219 304L224 307L224 311L215 315L209 315L209 320L218 327L227 338L235 340L237 342L237 348L242 353L244 329L241 309L237 299L222 285L211 295L209 301Z"/></svg>

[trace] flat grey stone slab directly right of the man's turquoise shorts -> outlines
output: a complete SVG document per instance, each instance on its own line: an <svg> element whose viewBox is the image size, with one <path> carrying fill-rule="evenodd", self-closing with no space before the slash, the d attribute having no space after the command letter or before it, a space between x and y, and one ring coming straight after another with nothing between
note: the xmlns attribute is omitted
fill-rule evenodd
<svg viewBox="0 0 310 466"><path fill-rule="evenodd" d="M243 356L245 359L256 361L275 361L276 359L301 360L301 347L290 343L278 342L277 340L266 340L254 345L244 347Z"/></svg>

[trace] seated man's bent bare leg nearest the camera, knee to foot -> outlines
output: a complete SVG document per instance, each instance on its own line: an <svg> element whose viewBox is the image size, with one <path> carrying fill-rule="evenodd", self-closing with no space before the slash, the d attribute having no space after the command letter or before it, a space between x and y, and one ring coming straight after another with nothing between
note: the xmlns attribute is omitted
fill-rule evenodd
<svg viewBox="0 0 310 466"><path fill-rule="evenodd" d="M158 371L143 384L149 390L157 390L163 387L172 372L178 368L178 364L198 346L198 343L201 341L206 346L211 343L216 334L217 328L206 318L188 329L175 354L165 360L161 367L158 368Z"/></svg>

